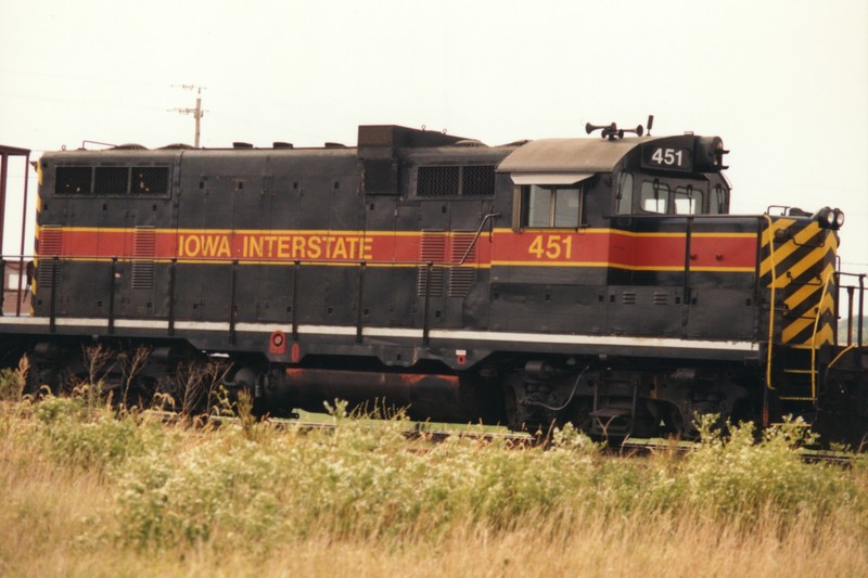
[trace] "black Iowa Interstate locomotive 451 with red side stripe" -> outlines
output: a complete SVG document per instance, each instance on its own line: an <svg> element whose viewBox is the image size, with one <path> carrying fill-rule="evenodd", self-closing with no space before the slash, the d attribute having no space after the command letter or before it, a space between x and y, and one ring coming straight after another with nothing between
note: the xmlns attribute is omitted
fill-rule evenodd
<svg viewBox="0 0 868 578"><path fill-rule="evenodd" d="M82 346L146 347L116 372L146 390L219 357L271 413L380 399L614 437L795 414L858 444L865 275L837 270L843 214L729 215L719 138L587 128L602 138L361 126L355 147L44 154L7 359L59 387Z"/></svg>

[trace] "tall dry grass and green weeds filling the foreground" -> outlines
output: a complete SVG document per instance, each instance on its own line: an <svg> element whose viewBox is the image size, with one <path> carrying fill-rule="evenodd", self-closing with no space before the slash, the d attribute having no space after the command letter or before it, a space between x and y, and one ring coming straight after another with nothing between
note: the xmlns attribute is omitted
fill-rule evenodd
<svg viewBox="0 0 868 578"><path fill-rule="evenodd" d="M242 404L242 407L245 407ZM244 412L242 412L244 413ZM408 440L335 409L334 431L214 427L80 389L0 412L0 575L856 576L868 464L804 463L806 429L701 424L685 457Z"/></svg>

